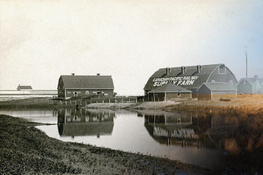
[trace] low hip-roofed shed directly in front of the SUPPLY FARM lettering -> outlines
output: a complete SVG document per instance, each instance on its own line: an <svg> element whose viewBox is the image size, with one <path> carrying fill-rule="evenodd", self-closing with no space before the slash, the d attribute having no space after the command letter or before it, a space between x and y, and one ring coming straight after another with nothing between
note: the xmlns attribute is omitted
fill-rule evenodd
<svg viewBox="0 0 263 175"><path fill-rule="evenodd" d="M148 92L149 101L166 101L175 98L191 98L192 91L173 83L168 83Z"/></svg>

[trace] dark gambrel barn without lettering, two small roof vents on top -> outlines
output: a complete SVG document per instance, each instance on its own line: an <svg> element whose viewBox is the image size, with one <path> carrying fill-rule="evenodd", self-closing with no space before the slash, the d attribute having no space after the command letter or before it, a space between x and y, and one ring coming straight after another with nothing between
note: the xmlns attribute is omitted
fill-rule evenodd
<svg viewBox="0 0 263 175"><path fill-rule="evenodd" d="M113 97L113 80L111 76L61 75L58 80L58 98L88 97L107 95Z"/></svg>

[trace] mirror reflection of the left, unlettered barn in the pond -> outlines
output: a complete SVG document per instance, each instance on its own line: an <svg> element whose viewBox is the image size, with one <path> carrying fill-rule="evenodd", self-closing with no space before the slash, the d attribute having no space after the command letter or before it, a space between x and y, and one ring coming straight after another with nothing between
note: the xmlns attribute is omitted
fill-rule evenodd
<svg viewBox="0 0 263 175"><path fill-rule="evenodd" d="M60 136L84 136L111 134L115 112L111 110L61 109L58 112Z"/></svg>

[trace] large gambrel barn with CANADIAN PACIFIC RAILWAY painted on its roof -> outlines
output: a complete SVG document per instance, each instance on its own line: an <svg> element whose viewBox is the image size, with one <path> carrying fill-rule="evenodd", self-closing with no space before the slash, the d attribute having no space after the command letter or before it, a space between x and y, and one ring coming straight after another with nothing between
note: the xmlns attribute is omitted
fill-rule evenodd
<svg viewBox="0 0 263 175"><path fill-rule="evenodd" d="M147 81L144 87L145 98L148 92L167 83L173 83L192 91L192 98L197 98L197 89L203 83L238 83L233 72L224 64L181 66L160 68Z"/></svg>

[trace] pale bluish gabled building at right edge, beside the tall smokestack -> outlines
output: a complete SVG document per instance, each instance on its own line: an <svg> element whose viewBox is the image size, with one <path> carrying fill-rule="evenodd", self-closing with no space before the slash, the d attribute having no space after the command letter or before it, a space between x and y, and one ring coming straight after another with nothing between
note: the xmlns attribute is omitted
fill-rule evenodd
<svg viewBox="0 0 263 175"><path fill-rule="evenodd" d="M238 94L263 94L263 78L241 78L237 84Z"/></svg>

